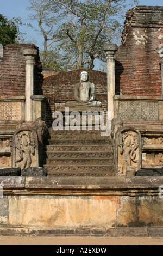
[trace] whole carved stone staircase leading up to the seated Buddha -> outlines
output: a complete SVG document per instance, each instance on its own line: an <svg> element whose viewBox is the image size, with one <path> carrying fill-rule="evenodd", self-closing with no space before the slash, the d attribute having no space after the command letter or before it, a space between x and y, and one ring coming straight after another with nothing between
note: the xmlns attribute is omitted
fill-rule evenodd
<svg viewBox="0 0 163 256"><path fill-rule="evenodd" d="M101 131L48 130L44 168L48 176L114 176L112 139Z"/></svg>

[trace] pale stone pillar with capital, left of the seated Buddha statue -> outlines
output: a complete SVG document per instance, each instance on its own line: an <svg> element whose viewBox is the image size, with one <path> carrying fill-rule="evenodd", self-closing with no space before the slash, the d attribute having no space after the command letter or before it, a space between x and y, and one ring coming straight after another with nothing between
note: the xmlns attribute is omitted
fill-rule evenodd
<svg viewBox="0 0 163 256"><path fill-rule="evenodd" d="M32 99L34 90L34 58L37 54L36 49L25 49L23 55L26 59L26 105L25 105L25 121L32 121Z"/></svg>

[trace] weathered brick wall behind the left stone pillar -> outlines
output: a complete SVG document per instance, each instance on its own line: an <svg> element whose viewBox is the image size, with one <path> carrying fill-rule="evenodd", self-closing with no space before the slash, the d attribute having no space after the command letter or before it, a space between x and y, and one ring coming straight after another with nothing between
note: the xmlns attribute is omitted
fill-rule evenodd
<svg viewBox="0 0 163 256"><path fill-rule="evenodd" d="M0 96L25 95L26 62L23 49L38 49L33 44L9 44L0 57ZM34 94L42 94L43 75L39 51L34 62Z"/></svg>

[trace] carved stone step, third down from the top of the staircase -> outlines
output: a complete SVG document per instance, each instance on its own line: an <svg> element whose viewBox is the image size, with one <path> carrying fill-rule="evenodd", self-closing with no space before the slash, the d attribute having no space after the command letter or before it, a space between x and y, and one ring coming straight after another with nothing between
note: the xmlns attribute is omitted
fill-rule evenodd
<svg viewBox="0 0 163 256"><path fill-rule="evenodd" d="M48 139L46 145L112 145L112 139Z"/></svg>

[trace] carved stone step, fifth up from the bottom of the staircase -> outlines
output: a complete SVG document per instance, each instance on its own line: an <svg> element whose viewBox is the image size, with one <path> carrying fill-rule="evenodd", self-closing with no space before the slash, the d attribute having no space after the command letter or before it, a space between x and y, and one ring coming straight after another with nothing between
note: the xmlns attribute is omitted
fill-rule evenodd
<svg viewBox="0 0 163 256"><path fill-rule="evenodd" d="M112 145L46 145L45 151L55 152L55 151L89 151L89 152L112 152Z"/></svg>

